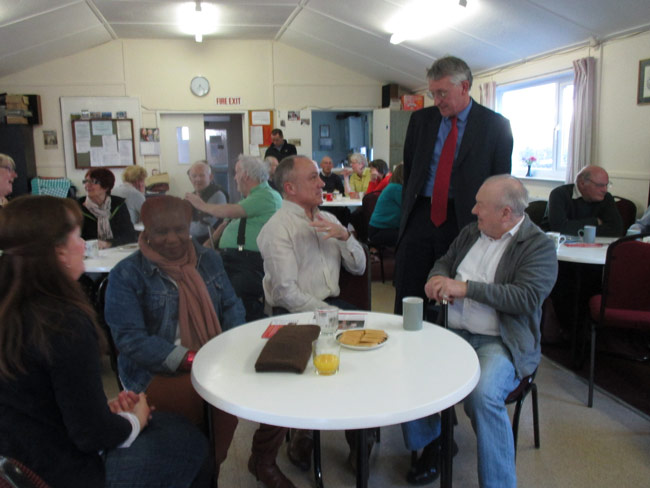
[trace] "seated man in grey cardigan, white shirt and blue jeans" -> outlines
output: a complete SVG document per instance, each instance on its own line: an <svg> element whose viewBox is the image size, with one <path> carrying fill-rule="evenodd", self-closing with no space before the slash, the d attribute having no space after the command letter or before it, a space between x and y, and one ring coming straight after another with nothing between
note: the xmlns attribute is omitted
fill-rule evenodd
<svg viewBox="0 0 650 488"><path fill-rule="evenodd" d="M524 210L528 192L510 175L488 178L476 194L478 222L464 227L425 285L448 300L449 327L476 350L481 378L465 398L477 437L481 488L516 488L515 449L505 399L539 364L542 303L555 283L555 246ZM438 476L439 417L403 424L407 448L424 447L411 484Z"/></svg>

